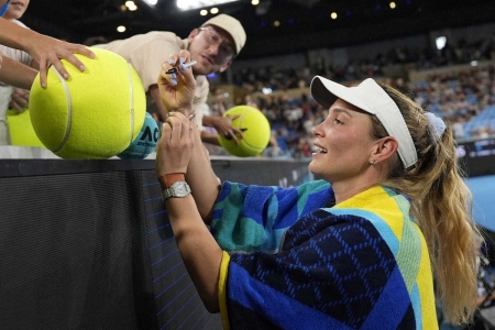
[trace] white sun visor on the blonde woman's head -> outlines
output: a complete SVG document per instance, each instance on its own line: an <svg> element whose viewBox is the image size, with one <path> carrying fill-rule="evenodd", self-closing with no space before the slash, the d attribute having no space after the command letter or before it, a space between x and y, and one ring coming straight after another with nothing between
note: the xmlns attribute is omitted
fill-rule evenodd
<svg viewBox="0 0 495 330"><path fill-rule="evenodd" d="M311 81L312 98L329 109L337 99L342 99L363 111L376 116L391 136L398 142L397 153L406 170L413 169L418 162L413 138L394 100L372 78L355 87L345 87L320 76Z"/></svg>

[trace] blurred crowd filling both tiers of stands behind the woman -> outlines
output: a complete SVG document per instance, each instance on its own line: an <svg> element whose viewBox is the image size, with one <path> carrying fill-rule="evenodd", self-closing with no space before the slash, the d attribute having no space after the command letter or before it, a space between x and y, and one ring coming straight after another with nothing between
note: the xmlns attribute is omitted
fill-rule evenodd
<svg viewBox="0 0 495 330"><path fill-rule="evenodd" d="M235 84L248 90L249 96L239 103L253 106L268 118L272 124L272 141L263 156L305 158L311 157L312 128L327 116L327 109L316 103L307 94L288 98L286 91L309 86L315 75L352 84L367 77L383 80L396 88L411 91L411 98L427 110L442 117L452 124L458 141L483 139L495 134L495 35L476 44L459 43L457 47L444 47L441 52L414 52L392 50L385 56L346 67L299 68L273 72L271 67L243 70L235 76ZM490 63L471 66L469 69L453 69L462 64ZM403 64L408 69L431 70L452 67L428 75L418 81L410 81L406 72L403 76L387 76L387 67ZM263 88L274 91L264 95ZM302 89L304 90L304 89ZM219 107L219 103L222 103ZM217 100L211 111L229 109ZM215 153L215 152L213 152ZM219 151L221 154L222 151Z"/></svg>

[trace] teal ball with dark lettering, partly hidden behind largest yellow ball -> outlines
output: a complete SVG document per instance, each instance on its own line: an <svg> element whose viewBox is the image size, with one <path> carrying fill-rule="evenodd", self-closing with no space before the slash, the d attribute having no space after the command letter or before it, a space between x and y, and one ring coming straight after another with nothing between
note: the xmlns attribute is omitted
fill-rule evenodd
<svg viewBox="0 0 495 330"><path fill-rule="evenodd" d="M148 154L155 151L156 144L160 140L160 130L156 120L146 112L144 124L138 138L123 152L117 156L121 160L129 158L145 158Z"/></svg>

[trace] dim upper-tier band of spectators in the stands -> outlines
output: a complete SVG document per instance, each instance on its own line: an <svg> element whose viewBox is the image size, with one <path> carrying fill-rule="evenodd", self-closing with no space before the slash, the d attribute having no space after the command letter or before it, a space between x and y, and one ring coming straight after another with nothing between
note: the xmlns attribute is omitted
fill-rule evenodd
<svg viewBox="0 0 495 330"><path fill-rule="evenodd" d="M274 70L273 66L245 68L234 74L234 84L250 92L262 91L263 88L272 90L286 90L309 86L315 75L324 76L338 82L363 80L369 77L397 77L407 70L425 70L444 66L466 64L495 59L495 33L484 41L468 43L464 40L457 46L446 46L441 51L430 48L394 47L374 58L350 62L346 66L328 66L316 63L312 67ZM404 65L403 73L391 73L391 67Z"/></svg>

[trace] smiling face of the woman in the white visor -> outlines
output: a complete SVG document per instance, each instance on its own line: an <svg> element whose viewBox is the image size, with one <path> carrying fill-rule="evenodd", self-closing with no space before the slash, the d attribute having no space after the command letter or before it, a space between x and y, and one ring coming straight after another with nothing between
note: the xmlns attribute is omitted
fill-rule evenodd
<svg viewBox="0 0 495 330"><path fill-rule="evenodd" d="M355 180L370 167L377 140L371 136L370 114L338 99L328 118L314 129L315 146L309 170L331 184Z"/></svg>

